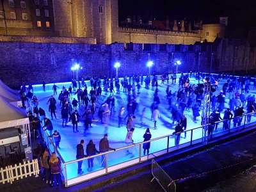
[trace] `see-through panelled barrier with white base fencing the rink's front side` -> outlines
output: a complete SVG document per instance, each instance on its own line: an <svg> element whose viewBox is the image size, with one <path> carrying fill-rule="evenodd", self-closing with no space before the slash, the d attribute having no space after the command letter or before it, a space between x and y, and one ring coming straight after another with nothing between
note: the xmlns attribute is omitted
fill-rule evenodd
<svg viewBox="0 0 256 192"><path fill-rule="evenodd" d="M211 141L213 138L218 138L219 136L225 136L237 131L242 131L256 125L255 115L256 113L249 113L246 115L237 116L236 118L232 118L231 120L216 122L214 127L218 126L218 131L208 131L208 140ZM253 116L252 122L250 122L251 116ZM223 123L223 125L225 124L225 126L220 127L221 123ZM84 157L83 159L75 159L68 162L64 161L64 159L61 157L60 152L58 152L58 149L54 146L54 142L51 138L48 138L48 136L49 135L45 131L44 138L47 142L47 145L49 146L51 151L56 151L56 154L58 154L63 163L65 186L68 187L74 184L78 184L80 182L84 182L86 180L93 179L95 177L100 177L102 175L115 172L116 170L120 170L134 164L141 163L143 161L148 161L148 159L153 159L154 157L167 154L168 152L172 152L180 148L189 147L191 145L195 145L196 143L202 143L202 126L186 130L182 133L177 133L174 135L168 134L166 136L154 138L150 141L117 148L116 151L111 150L102 154L97 154L95 156ZM179 142L175 141L178 138ZM144 156L143 143L148 142L151 143L151 146L154 145L154 148L150 148L150 154ZM133 151L134 156L126 156L125 154L127 154L127 150ZM97 165L95 166L95 170L91 170L88 172L84 172L81 175L77 175L75 171L77 170L77 163L79 161L88 160L90 158L94 158L94 161L97 161L96 163L94 163ZM106 165L102 164L102 161L106 162Z"/></svg>

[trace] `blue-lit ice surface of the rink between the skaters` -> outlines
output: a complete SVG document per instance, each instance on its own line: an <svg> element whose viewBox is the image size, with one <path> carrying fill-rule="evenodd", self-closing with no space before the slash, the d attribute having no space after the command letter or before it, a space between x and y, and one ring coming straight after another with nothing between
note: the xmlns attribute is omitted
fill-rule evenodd
<svg viewBox="0 0 256 192"><path fill-rule="evenodd" d="M154 99L154 91L151 90L151 87L148 90L145 89L145 83L143 83L143 86L141 86L141 89L140 89L140 94L137 94L137 98L136 98L136 102L138 102L138 108L135 111L135 116L136 116L135 130L134 130L134 133L132 136L134 143L139 143L139 142L143 141L143 134L145 133L145 131L148 127L150 128L150 132L152 134L152 139L158 138L161 136L166 136L168 134L172 134L172 132L175 131L175 124L172 124L172 122L173 122L172 113L168 109L169 105L168 105L168 99L166 99L166 86L170 85L170 90L172 90L172 93L177 91L179 89L178 79L179 78L177 78L177 83L175 83L175 84L172 84L171 81L169 81L168 84L166 83L166 81L164 84L161 84L161 80L159 80L159 78L158 78L158 84L159 84L158 95L159 95L159 99L161 102L158 106L158 109L159 109L161 117L157 121L157 129L153 129L154 122L152 121L152 117L151 117L152 113L151 113L151 109L150 109L150 106ZM190 79L191 84L198 83L198 81L195 80L193 77L189 78L189 79ZM200 83L203 83L203 82L200 81ZM219 82L218 89L216 90L216 92L213 93L214 95L217 96L220 93L223 83L225 83L225 81ZM87 90L89 93L91 90L90 82L86 81L86 84L88 86ZM58 86L60 88L62 88L62 85L61 86L60 85L61 84L58 84ZM65 83L66 88L68 88L67 85L70 85L70 84ZM51 115L48 111L47 101L48 101L49 97L51 97L51 95L53 95L53 90L51 90L52 87L48 85L48 87L50 89L48 88L48 90L46 90L45 92L43 91L43 88L41 86L35 86L35 87L36 88L34 88L34 90L35 90L34 95L36 95L36 97L38 98L38 101L39 101L38 108L43 108L45 110L46 116L51 119ZM88 141L90 141L90 140L93 140L93 143L96 144L97 150L99 150L99 141L100 141L100 139L103 138L105 133L108 133L108 140L109 140L109 145L111 148L120 148L120 147L127 146L125 144L125 136L127 134L126 120L124 120L121 127L118 127L118 111L121 106L125 107L125 114L127 114L127 107L126 107L127 106L127 93L123 93L122 89L120 89L120 94L115 93L115 99L116 99L115 100L115 111L113 110L113 112L110 115L110 121L109 121L108 128L104 127L101 124L99 116L97 116L98 109L99 109L99 108L97 108L97 111L95 112L95 120L93 120L92 127L90 127L89 130L86 131L86 133L84 134L84 118L79 119L80 120L80 122L78 124L79 132L73 132L71 122L68 123L67 127L62 127L61 105L60 105L60 100L58 100L58 95L61 91L60 88L58 88L58 90L57 90L57 95L54 95L54 98L57 101L57 105L56 105L57 119L54 118L52 120L52 124L54 126L53 130L57 130L61 134L61 142L60 142L59 152L65 162L72 161L72 160L76 159L76 145L79 144L82 139L84 140L84 153L86 151L86 145L87 145ZM252 90L252 88L253 88L253 86L250 87L250 89L251 89L250 94L255 94L255 90ZM82 90L83 90L83 88L82 88ZM100 104L102 104L109 97L109 94L110 93L108 92L108 95L104 95L103 88L102 88L102 95L99 99L99 102L97 102L97 107L100 107ZM77 99L77 95L73 95L73 97L76 97L76 99ZM225 108L228 108L228 102L229 102L228 97L226 97ZM193 106L194 104L195 104L195 101L193 101L193 104L191 106ZM89 104L89 107L90 106L91 106L91 104ZM111 106L109 106L109 107L111 107ZM145 116L146 116L145 125L141 125L141 111L143 108L147 108L146 113L145 113ZM83 113L85 111L84 106L82 106L82 105L78 106L77 110L79 112L79 115L83 115ZM246 109L244 111L246 111ZM202 112L202 108L201 108L201 112ZM184 115L188 119L187 130L193 129L195 127L200 127L201 117L198 116L197 122L196 123L193 122L193 114L192 114L191 109L190 109L190 111L185 110ZM223 117L223 112L221 114L221 117ZM253 120L255 120L254 116L252 117L252 121ZM218 125L217 131L222 131L222 123L220 125ZM198 129L197 131L193 132L193 140L196 138L201 138L201 137L202 137L202 129ZM167 140L167 138L166 138L166 140ZM184 133L181 134L180 143L184 143L186 141L190 141L189 132L188 132L186 138L184 138ZM165 141L165 140L157 140L157 141L151 142L150 153L157 152L159 150L163 150L163 148L166 148L166 142L167 141ZM172 136L172 137L170 137L170 147L174 146L174 143L175 143L175 137ZM136 154L135 157L138 157L138 154L139 154L138 147L134 147L134 154ZM108 156L109 164L108 165L111 166L111 164L117 164L120 162L128 161L129 159L130 159L130 157L126 156L124 150L118 150L116 152L109 154L109 156ZM100 169L100 165L101 165L100 161L101 161L100 157L95 157L94 170ZM83 166L82 166L84 173L88 172L87 168L88 168L87 162L84 161ZM77 176L77 163L68 164L67 172L68 172L68 178L76 177Z"/></svg>

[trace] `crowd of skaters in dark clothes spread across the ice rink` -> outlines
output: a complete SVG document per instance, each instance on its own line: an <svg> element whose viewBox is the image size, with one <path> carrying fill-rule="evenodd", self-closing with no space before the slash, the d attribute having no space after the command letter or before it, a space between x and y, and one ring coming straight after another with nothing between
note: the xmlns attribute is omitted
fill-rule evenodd
<svg viewBox="0 0 256 192"><path fill-rule="evenodd" d="M255 96L250 94L250 77L234 77L228 74L218 74L215 76L209 76L207 74L195 74L193 72L180 74L179 77L179 90L173 91L171 84L176 84L177 75L170 75L165 73L161 76L161 84L166 84L166 97L159 98L157 94L158 90L158 80L157 76L146 76L134 75L130 77L124 77L121 81L118 78L107 78L106 76L102 80L99 77L92 77L90 79L91 90L88 92L87 84L82 79L76 81L72 79L72 84L68 88L61 89L61 92L58 95L58 100L61 105L61 118L62 118L62 127L68 126L68 122L72 123L72 128L74 133L79 132L77 123L81 118L84 118L84 134L89 129L89 126L92 127L92 121L95 120L95 112L98 111L97 116L99 116L102 125L106 127L105 131L108 132L109 120L111 115L115 112L115 95L123 92L127 94L127 106L126 109L124 106L118 110L118 127L126 124L127 136L125 138L125 143L127 145L132 145L132 134L135 130L135 120L138 108L138 103L136 102L137 95L140 94L140 89L145 83L146 89L151 89L154 92L154 99L150 106L152 111L152 120L154 122L153 127L148 127L147 131L143 135L144 141L148 141L151 138L150 129L157 129L157 120L160 118L160 111L158 106L161 104L161 99L167 99L169 106L166 106L170 111L170 118L173 120L173 125L175 125L175 132L173 134L176 136L175 145L179 145L180 133L186 131L187 128L187 118L184 115L184 111L193 111L193 121L196 122L196 118L200 116L200 111L202 110L202 102L204 100L204 95L198 90L198 84L191 84L189 78L195 77L198 80L198 83L201 79L209 78L209 82L214 84L216 87L216 92L211 93L211 115L209 116L209 136L212 136L212 131L218 129L218 121L220 120L229 120L232 117L241 116L244 114L244 109L247 113L255 112ZM171 81L170 81L171 79ZM170 81L170 83L169 83ZM222 88L218 87L219 81L225 81ZM151 88L150 88L151 86ZM108 95L107 99L102 102L101 94L102 88L105 95ZM56 84L52 86L53 95L57 95ZM253 83L253 89L256 88L255 81ZM45 90L45 83L43 83L43 89ZM51 113L51 120L56 118L56 105L57 101L53 97L49 98L47 104L49 103L49 113ZM31 127L33 129L40 129L40 126L49 131L49 136L54 138L56 147L60 148L60 134L54 136L52 134L53 126L49 118L45 116L45 111L42 108L38 108L38 99L33 95L33 86L30 84L28 88L22 86L20 90L20 97L22 103L29 101L31 104L32 111L28 111L29 121L31 122ZM227 100L228 99L228 100ZM225 108L225 102L228 101L229 108ZM100 103L101 102L101 103ZM24 104L25 107L25 104ZM84 108L83 115L80 115L78 111L81 111L81 108ZM79 110L80 109L80 110ZM141 112L141 125L145 124L145 111L147 108L143 108ZM224 110L224 116L221 117L220 113ZM201 116L203 114L201 113ZM247 121L250 122L251 116L247 116ZM234 126L241 125L242 117L235 118ZM228 129L227 122L223 122L223 129ZM42 136L42 132L39 131L38 137ZM186 132L184 133L186 138ZM86 155L81 150L81 145L77 145L77 159L83 158L84 156L93 156L99 152L106 152L108 150L115 150L110 148L108 145L108 134L104 135L105 147L99 147L99 150L95 148L95 144L92 140L86 145ZM106 144L107 143L107 144ZM144 152L149 153L150 143L145 143L143 145ZM99 144L100 145L100 144ZM80 146L80 148L79 148ZM131 155L134 157L134 152L132 148L127 150L127 156ZM104 166L104 156L102 156L101 165ZM80 162L80 161L79 161ZM81 163L78 164L77 173L82 173ZM88 171L93 169L93 158L88 159Z"/></svg>

